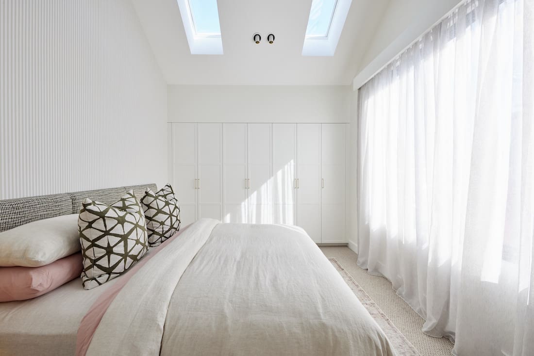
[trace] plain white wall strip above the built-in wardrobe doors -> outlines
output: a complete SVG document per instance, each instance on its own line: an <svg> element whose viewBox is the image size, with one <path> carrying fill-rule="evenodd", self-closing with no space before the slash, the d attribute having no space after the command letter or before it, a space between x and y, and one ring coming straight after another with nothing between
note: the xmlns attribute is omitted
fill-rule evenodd
<svg viewBox="0 0 534 356"><path fill-rule="evenodd" d="M169 122L349 122L352 87L169 85Z"/></svg>

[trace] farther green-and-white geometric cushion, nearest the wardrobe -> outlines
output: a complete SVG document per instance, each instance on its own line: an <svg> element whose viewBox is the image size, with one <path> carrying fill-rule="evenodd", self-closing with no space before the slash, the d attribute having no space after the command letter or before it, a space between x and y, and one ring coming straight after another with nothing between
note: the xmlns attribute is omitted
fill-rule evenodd
<svg viewBox="0 0 534 356"><path fill-rule="evenodd" d="M150 247L158 246L180 230L180 207L169 184L156 193L147 188L141 203Z"/></svg>

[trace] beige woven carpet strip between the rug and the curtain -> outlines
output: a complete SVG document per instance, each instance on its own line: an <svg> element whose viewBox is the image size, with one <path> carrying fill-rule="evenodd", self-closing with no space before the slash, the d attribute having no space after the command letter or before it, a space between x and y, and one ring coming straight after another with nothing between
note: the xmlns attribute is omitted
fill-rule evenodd
<svg viewBox="0 0 534 356"><path fill-rule="evenodd" d="M368 274L356 264L357 255L348 247L320 247L326 257L337 259L345 271L367 292L421 356L450 356L453 344L446 338L422 333L424 320L397 296L391 283L382 277Z"/></svg>

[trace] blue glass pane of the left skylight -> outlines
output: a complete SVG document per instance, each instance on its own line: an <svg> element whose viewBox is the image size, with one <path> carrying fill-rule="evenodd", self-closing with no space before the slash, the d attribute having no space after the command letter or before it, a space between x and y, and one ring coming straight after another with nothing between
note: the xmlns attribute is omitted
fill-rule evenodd
<svg viewBox="0 0 534 356"><path fill-rule="evenodd" d="M221 36L217 0L188 0L195 34Z"/></svg>

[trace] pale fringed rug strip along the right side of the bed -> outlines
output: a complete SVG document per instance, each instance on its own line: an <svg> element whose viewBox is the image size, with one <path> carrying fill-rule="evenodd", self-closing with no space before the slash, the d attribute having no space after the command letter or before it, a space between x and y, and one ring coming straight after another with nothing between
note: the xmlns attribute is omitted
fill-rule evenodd
<svg viewBox="0 0 534 356"><path fill-rule="evenodd" d="M404 335L397 329L397 327L386 317L386 314L380 310L378 305L371 299L370 296L359 286L358 283L352 278L352 276L345 271L345 269L337 262L335 258L328 258L328 260L335 267L337 272L341 274L345 282L349 285L350 289L354 292L356 297L365 306L371 317L376 321L378 326L384 330L384 334L389 339L391 346L394 347L398 355L403 356L420 356L419 352L415 350L415 347L404 337Z"/></svg>

